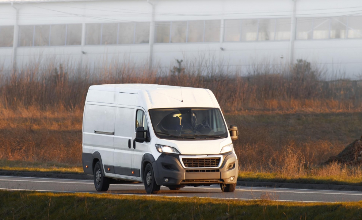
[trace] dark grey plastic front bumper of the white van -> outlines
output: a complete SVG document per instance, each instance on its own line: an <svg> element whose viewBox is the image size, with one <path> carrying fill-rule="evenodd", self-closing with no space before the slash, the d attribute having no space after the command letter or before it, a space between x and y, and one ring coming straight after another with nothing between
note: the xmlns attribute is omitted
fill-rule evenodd
<svg viewBox="0 0 362 220"><path fill-rule="evenodd" d="M210 185L214 183L236 183L238 163L235 154L223 154L222 165L219 168L185 169L182 167L179 155L161 154L152 163L157 185ZM233 180L230 180L233 177ZM165 179L168 179L166 182Z"/></svg>

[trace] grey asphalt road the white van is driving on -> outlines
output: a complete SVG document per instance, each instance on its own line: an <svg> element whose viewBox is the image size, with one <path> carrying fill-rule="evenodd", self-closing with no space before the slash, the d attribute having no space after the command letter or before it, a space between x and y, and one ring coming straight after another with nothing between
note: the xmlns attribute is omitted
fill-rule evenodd
<svg viewBox="0 0 362 220"><path fill-rule="evenodd" d="M53 192L91 192L98 193L93 181L6 177L0 176L0 190L35 190ZM143 184L114 184L110 185L106 193L126 195L146 195ZM236 187L233 193L223 193L219 185L202 187L184 187L181 190L169 190L161 187L155 196L182 196L182 197L209 197L227 199L271 199L293 202L343 202L362 200L362 192L334 191L334 190L301 190L261 187Z"/></svg>

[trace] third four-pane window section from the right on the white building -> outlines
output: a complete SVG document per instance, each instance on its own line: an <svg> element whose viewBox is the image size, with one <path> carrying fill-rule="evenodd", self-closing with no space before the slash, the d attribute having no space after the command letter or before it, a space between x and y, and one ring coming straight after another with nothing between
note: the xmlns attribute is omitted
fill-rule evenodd
<svg viewBox="0 0 362 220"><path fill-rule="evenodd" d="M220 20L156 22L155 43L218 42Z"/></svg>

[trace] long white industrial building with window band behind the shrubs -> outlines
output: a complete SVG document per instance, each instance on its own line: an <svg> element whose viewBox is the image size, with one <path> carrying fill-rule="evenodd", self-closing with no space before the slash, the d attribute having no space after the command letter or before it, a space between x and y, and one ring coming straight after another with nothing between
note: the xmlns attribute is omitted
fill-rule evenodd
<svg viewBox="0 0 362 220"><path fill-rule="evenodd" d="M169 68L200 57L241 71L306 59L358 78L362 1L0 0L3 71L52 59Z"/></svg>

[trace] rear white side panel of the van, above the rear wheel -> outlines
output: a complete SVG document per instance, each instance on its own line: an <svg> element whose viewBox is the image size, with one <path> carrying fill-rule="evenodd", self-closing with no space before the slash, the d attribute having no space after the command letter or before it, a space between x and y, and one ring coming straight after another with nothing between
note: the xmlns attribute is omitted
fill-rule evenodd
<svg viewBox="0 0 362 220"><path fill-rule="evenodd" d="M103 165L113 166L114 121L116 107L86 104L83 127L84 153L101 154ZM106 176L114 174L106 173Z"/></svg>

